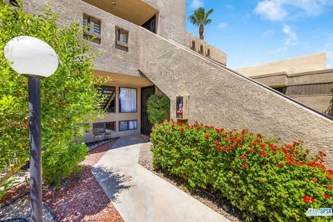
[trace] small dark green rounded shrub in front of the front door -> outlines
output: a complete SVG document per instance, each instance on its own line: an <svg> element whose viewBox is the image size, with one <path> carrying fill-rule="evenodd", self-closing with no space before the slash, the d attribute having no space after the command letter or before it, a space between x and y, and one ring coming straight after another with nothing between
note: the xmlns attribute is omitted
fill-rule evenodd
<svg viewBox="0 0 333 222"><path fill-rule="evenodd" d="M163 123L170 111L170 99L163 94L153 94L147 101L147 112L149 121Z"/></svg>

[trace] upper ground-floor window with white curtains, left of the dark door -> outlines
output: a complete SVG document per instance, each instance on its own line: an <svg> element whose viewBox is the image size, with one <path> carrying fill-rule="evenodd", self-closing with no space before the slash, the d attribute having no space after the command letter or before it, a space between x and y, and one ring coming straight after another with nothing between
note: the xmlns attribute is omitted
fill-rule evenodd
<svg viewBox="0 0 333 222"><path fill-rule="evenodd" d="M119 112L137 112L137 89L119 87Z"/></svg>

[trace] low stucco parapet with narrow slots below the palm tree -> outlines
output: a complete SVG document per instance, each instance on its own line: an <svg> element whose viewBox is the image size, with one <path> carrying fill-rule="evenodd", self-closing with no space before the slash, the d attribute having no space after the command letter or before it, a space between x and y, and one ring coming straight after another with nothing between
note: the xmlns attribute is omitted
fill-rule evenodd
<svg viewBox="0 0 333 222"><path fill-rule="evenodd" d="M215 60L217 62L222 63L223 65L227 65L227 54L225 54L223 51L215 48L214 46L210 45L208 42L205 42L204 40L200 40L200 37L193 35L192 33L186 33L186 44L189 49L192 49L192 42L195 42L195 50L197 53L200 52L200 46L203 46L203 56L207 56L211 58L212 60ZM208 55L208 49L210 49L210 56Z"/></svg>

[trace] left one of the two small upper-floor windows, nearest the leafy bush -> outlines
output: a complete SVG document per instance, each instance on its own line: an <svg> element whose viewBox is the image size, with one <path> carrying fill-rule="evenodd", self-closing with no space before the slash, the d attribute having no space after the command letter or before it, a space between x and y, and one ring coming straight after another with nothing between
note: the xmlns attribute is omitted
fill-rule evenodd
<svg viewBox="0 0 333 222"><path fill-rule="evenodd" d="M92 37L92 42L101 44L101 19L83 14L83 28L85 29L83 37L86 40Z"/></svg>

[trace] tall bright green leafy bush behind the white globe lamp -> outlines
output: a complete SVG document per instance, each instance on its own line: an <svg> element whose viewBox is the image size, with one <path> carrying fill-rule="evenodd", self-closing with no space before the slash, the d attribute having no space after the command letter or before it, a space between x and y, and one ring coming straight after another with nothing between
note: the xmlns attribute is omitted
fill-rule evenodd
<svg viewBox="0 0 333 222"><path fill-rule="evenodd" d="M75 144L83 137L77 123L96 112L99 94L93 76L95 53L83 30L75 23L58 28L57 16L46 7L41 15L28 15L18 7L0 1L0 196L10 177L29 160L28 151L28 79L10 68L3 49L20 35L38 37L58 54L59 67L53 76L41 80L42 166L46 182L69 176L83 160L87 148Z"/></svg>

